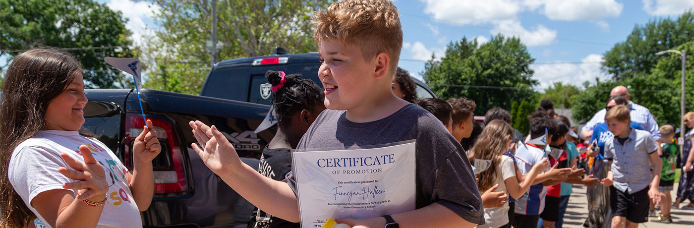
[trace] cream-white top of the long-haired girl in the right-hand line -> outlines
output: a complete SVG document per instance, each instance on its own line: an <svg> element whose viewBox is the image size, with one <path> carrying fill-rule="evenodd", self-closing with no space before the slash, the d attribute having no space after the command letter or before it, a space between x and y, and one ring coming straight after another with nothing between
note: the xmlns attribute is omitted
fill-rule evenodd
<svg viewBox="0 0 694 228"><path fill-rule="evenodd" d="M510 177L516 177L516 168L514 168L514 160L512 160L511 157L508 157L506 155L501 155L501 157L502 158L500 164L496 164L496 177L494 178L494 182L491 185L494 186L494 184L499 184L499 187L496 188L496 192L504 192L507 195L509 195L504 180L509 179ZM478 225L477 227L496 228L506 225L507 223L509 223L508 200L502 207L495 207L489 209L485 208L484 225Z"/></svg>

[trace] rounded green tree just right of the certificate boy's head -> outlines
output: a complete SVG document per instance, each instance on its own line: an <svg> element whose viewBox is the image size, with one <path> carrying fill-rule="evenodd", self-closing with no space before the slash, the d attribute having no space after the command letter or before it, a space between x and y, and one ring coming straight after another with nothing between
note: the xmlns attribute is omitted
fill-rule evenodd
<svg viewBox="0 0 694 228"><path fill-rule="evenodd" d="M496 35L477 48L477 40L451 42L441 60L428 61L424 80L442 99L465 96L476 112L511 109L514 100L536 100L530 64L534 59L518 37Z"/></svg>

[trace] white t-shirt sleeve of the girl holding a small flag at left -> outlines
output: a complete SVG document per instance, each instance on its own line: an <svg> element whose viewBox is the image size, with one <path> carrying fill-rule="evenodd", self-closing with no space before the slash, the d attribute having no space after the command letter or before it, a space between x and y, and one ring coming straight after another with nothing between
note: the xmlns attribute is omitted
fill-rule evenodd
<svg viewBox="0 0 694 228"><path fill-rule="evenodd" d="M75 182L58 172L60 166L69 167L58 153L27 146L12 157L8 177L15 191L28 197L26 203L31 203L39 193L65 189L63 183Z"/></svg>

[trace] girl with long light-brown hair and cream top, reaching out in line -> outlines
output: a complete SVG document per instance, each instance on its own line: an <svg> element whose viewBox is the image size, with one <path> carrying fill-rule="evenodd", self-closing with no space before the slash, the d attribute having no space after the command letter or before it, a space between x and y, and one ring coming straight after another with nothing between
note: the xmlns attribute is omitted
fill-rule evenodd
<svg viewBox="0 0 694 228"><path fill-rule="evenodd" d="M484 127L482 134L468 154L471 163L474 163L475 159L491 160L491 166L477 174L480 179L477 184L480 193L497 186L498 191L505 191L512 198L521 198L537 175L547 170L549 163L545 158L532 167L531 172L525 175L523 182L518 182L513 159L504 155L511 147L513 135L513 128L508 123L493 120ZM477 227L505 227L509 223L508 211L508 202L502 207L485 208L484 220L486 223Z"/></svg>

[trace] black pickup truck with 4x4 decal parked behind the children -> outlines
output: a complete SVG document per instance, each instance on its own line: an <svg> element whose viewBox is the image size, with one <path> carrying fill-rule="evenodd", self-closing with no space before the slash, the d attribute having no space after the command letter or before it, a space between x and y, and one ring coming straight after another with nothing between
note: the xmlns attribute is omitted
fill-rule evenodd
<svg viewBox="0 0 694 228"><path fill-rule="evenodd" d="M139 96L151 119L162 152L153 160L154 198L142 213L145 227L246 227L253 205L241 198L203 164L192 150L196 142L189 121L215 125L235 146L239 157L257 167L260 154L276 127L254 133L269 111L268 70L303 73L319 83L317 53L272 55L218 62L205 80L200 96L142 89ZM422 82L418 94L433 96ZM134 137L142 131L135 89L87 89L85 124L132 168ZM111 202L128 200L109 199Z"/></svg>

